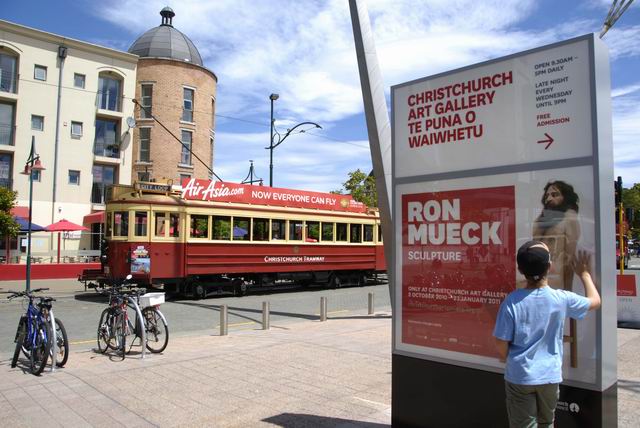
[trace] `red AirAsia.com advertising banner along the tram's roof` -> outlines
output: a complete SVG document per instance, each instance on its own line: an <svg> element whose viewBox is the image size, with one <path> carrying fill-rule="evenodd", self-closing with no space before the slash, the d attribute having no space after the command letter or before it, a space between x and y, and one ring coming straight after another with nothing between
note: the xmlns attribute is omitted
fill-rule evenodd
<svg viewBox="0 0 640 428"><path fill-rule="evenodd" d="M196 201L237 202L358 213L367 210L366 205L353 200L350 195L250 186L194 178L182 181L182 198Z"/></svg>

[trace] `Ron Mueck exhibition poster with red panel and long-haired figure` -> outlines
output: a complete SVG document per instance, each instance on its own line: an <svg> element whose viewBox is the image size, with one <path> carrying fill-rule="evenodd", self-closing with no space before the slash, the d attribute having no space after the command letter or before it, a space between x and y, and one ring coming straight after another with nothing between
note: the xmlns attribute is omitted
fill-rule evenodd
<svg viewBox="0 0 640 428"><path fill-rule="evenodd" d="M550 183L568 186L567 203L553 207L554 223L543 232L543 213L552 208L543 202ZM396 237L396 262L402 268L396 283L402 286L396 288L396 301L402 321L396 324L396 348L502 367L492 333L506 295L526 284L517 272L517 249L533 237L547 242L553 253L549 285L584 295L580 279L568 271L572 258L562 247L587 251L595 275L593 191L590 167L398 186L402 233ZM595 382L596 331L596 313L589 312L573 331L577 346L572 349L566 322L566 379Z"/></svg>

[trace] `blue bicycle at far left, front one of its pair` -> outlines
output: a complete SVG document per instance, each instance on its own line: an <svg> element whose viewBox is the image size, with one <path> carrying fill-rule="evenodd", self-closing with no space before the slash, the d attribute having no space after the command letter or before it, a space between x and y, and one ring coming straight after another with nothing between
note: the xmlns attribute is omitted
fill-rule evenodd
<svg viewBox="0 0 640 428"><path fill-rule="evenodd" d="M18 330L16 331L16 349L11 359L11 367L15 367L18 362L20 351L29 357L31 373L39 375L47 365L49 353L51 352L51 333L47 320L42 312L33 304L37 297L33 293L48 290L48 288L37 288L32 291L9 291L8 299L16 297L26 297L29 300L27 310L20 317Z"/></svg>

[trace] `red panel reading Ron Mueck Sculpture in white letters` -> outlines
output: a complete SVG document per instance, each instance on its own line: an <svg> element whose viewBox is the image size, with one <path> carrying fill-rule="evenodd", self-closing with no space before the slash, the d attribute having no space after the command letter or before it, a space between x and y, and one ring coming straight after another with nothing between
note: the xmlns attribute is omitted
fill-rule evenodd
<svg viewBox="0 0 640 428"><path fill-rule="evenodd" d="M497 357L515 243L513 186L403 195L403 342Z"/></svg>

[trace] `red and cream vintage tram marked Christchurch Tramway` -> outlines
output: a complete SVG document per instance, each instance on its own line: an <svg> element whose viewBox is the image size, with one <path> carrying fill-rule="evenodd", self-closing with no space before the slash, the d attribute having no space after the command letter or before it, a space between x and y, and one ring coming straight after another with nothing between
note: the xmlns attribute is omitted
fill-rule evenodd
<svg viewBox="0 0 640 428"><path fill-rule="evenodd" d="M204 297L277 281L363 284L386 269L380 218L351 196L184 180L112 187L105 276Z"/></svg>

